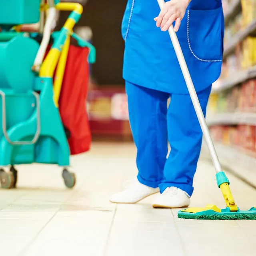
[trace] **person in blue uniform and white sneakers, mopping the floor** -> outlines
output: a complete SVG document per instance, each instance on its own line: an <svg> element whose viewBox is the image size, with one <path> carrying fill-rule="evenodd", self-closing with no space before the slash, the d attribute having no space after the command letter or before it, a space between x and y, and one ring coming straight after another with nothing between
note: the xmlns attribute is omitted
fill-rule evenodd
<svg viewBox="0 0 256 256"><path fill-rule="evenodd" d="M221 0L171 0L161 11L156 0L128 0L122 21L123 77L138 176L127 189L112 195L111 202L136 203L160 191L153 207L190 204L202 130L170 43L167 30L172 24L204 116L212 83L220 76Z"/></svg>

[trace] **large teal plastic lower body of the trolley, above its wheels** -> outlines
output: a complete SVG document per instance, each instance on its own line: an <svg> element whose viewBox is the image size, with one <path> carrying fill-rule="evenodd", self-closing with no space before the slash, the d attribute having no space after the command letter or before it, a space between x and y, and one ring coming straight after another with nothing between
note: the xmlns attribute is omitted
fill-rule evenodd
<svg viewBox="0 0 256 256"><path fill-rule="evenodd" d="M68 166L70 152L58 108L52 100L52 78L39 78L31 70L39 44L25 36L10 38L0 42L0 90L6 101L4 110L0 97L0 166L32 162ZM38 120L39 105L32 94L35 88L40 88L40 137L35 144L11 145L2 130L2 114L6 113L10 140L31 141Z"/></svg>

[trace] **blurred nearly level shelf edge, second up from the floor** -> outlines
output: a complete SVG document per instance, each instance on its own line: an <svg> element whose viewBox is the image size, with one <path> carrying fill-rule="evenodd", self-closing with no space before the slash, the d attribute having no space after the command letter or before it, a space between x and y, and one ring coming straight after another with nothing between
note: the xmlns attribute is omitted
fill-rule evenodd
<svg viewBox="0 0 256 256"><path fill-rule="evenodd" d="M256 113L221 113L212 115L207 120L208 126L247 124L256 126Z"/></svg>

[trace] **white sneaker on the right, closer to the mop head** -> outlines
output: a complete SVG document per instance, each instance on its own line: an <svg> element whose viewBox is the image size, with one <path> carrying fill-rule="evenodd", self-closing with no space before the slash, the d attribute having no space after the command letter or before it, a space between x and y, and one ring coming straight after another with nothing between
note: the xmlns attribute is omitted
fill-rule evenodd
<svg viewBox="0 0 256 256"><path fill-rule="evenodd" d="M154 208L183 208L188 207L190 198L188 194L180 188L166 188L153 202Z"/></svg>

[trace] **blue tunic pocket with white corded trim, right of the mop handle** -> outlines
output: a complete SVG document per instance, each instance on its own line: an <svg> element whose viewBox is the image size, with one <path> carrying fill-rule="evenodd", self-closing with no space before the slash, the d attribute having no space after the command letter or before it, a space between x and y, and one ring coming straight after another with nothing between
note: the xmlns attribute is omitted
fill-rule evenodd
<svg viewBox="0 0 256 256"><path fill-rule="evenodd" d="M191 54L202 62L221 62L223 55L223 11L187 10L187 39Z"/></svg>

